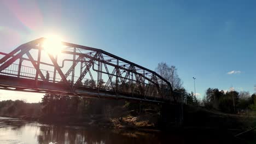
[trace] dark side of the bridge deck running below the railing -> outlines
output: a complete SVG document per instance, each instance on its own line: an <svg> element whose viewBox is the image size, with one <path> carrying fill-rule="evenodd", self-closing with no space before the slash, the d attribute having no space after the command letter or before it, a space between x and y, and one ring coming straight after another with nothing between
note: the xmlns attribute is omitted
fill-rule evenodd
<svg viewBox="0 0 256 144"><path fill-rule="evenodd" d="M63 83L52 83L46 81L39 81L38 85L34 85L34 80L23 79L13 76L0 75L2 80L0 83L0 89L9 91L20 91L20 92L34 92L34 93L51 93L59 95L69 95L75 97L85 97L85 98L103 98L103 99L115 99L115 100L135 100L135 101L148 101L152 103L165 103L160 98L152 97L141 97L141 95L130 95L129 93L119 93L115 94L112 91L107 91L91 87L80 86L75 89L74 92L68 91L67 87Z"/></svg>

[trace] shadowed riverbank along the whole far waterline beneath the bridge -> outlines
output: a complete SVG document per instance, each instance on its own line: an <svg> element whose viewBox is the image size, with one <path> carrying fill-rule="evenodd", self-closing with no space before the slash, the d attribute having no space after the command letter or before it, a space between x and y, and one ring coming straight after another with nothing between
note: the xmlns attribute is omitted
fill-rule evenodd
<svg viewBox="0 0 256 144"><path fill-rule="evenodd" d="M118 107L121 109L121 107ZM127 109L115 115L2 115L3 117L20 118L26 121L38 121L49 124L79 125L85 127L98 127L102 129L141 129L148 131L170 129L223 129L229 131L245 131L256 126L255 115L231 115L216 110L206 110L203 107L184 106L184 123L181 127L168 124L161 125L160 113L144 110L142 113Z"/></svg>

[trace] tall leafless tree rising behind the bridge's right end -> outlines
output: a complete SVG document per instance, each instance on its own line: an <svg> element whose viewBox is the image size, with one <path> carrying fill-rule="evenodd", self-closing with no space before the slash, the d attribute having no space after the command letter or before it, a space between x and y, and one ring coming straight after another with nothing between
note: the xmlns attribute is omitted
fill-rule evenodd
<svg viewBox="0 0 256 144"><path fill-rule="evenodd" d="M155 69L156 73L164 77L172 85L173 89L181 89L183 82L177 74L177 69L175 66L169 67L166 63L161 62Z"/></svg>

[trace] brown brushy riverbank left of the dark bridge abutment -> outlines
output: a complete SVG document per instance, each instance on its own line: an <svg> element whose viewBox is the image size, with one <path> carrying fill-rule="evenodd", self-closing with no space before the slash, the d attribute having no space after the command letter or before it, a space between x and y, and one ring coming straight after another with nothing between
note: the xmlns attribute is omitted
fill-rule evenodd
<svg viewBox="0 0 256 144"><path fill-rule="evenodd" d="M147 112L147 110L143 113L135 111L116 113L114 117L106 115L1 115L1 117L19 118L24 121L37 121L46 124L66 124L102 129L148 129L147 131L157 131L159 121L159 113Z"/></svg>

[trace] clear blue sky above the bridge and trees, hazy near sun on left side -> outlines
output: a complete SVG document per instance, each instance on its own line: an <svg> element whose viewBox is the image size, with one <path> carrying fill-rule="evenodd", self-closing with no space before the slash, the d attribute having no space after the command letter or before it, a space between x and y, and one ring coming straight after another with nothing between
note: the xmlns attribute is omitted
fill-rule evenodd
<svg viewBox="0 0 256 144"><path fill-rule="evenodd" d="M254 92L255 1L1 1L0 51L48 34L154 70L175 65L188 91ZM234 73L229 73L234 71ZM31 93L30 93L31 94ZM0 100L38 101L0 92ZM33 94L32 94L33 95Z"/></svg>

